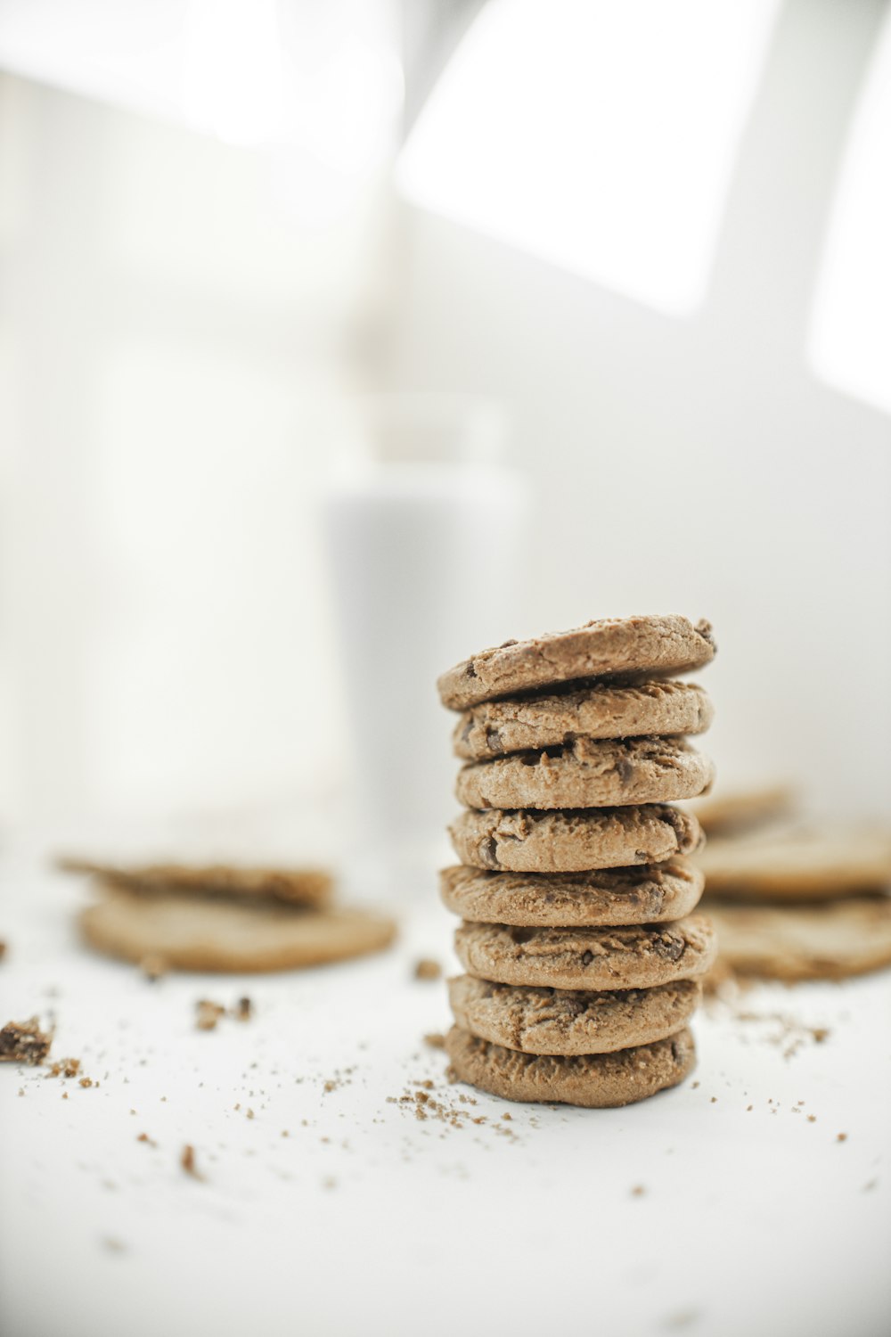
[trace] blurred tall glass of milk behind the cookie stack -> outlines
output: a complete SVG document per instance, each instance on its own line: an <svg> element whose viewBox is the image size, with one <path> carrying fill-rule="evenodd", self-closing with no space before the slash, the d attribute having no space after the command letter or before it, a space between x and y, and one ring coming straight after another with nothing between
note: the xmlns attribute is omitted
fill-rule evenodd
<svg viewBox="0 0 891 1337"><path fill-rule="evenodd" d="M363 398L323 499L353 753L347 881L429 896L458 761L437 677L514 634L525 479L470 396Z"/></svg>

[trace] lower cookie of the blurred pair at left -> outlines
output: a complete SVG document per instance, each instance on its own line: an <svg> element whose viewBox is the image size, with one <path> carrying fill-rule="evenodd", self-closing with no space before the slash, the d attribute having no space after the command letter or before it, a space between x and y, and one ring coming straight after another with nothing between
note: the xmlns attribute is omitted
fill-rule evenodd
<svg viewBox="0 0 891 1337"><path fill-rule="evenodd" d="M393 920L367 910L230 904L162 892L112 892L80 916L85 940L124 961L179 971L287 971L387 947Z"/></svg>

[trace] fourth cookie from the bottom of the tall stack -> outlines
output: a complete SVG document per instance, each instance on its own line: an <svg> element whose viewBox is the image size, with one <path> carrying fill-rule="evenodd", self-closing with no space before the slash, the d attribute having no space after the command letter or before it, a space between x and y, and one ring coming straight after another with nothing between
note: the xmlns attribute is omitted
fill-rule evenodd
<svg viewBox="0 0 891 1337"><path fill-rule="evenodd" d="M683 858L585 873L490 873L461 865L439 873L439 893L464 920L572 928L681 919L696 909L704 881Z"/></svg>

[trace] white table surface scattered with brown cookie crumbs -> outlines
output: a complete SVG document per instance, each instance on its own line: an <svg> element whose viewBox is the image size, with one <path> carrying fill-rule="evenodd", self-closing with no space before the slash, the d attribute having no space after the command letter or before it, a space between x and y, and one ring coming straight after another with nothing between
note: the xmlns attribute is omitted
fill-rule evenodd
<svg viewBox="0 0 891 1337"><path fill-rule="evenodd" d="M385 955L151 984L79 945L39 850L4 865L1 1019L55 1011L96 1082L0 1066L4 1337L891 1332L890 972L713 1007L693 1079L639 1106L517 1106L422 1042L433 885ZM391 1103L426 1079L460 1126Z"/></svg>

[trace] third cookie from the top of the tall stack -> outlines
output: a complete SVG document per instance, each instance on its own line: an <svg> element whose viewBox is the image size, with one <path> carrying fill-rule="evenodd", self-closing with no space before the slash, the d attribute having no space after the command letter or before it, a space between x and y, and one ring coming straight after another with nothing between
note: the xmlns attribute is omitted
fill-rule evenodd
<svg viewBox="0 0 891 1337"><path fill-rule="evenodd" d="M545 751L462 766L466 808L621 808L708 792L713 766L680 738L577 738Z"/></svg>

